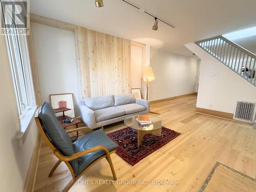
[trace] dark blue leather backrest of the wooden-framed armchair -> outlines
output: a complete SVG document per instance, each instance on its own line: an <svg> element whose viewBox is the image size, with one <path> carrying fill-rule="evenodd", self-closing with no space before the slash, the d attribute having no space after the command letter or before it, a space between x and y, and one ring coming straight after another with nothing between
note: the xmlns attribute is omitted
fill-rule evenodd
<svg viewBox="0 0 256 192"><path fill-rule="evenodd" d="M51 140L57 150L65 156L73 155L75 152L72 141L65 129L63 129L63 127L59 124L53 112L52 106L49 103L44 102L42 104L38 117L48 138ZM73 160L70 162L70 164L74 172L76 172L78 169L78 161Z"/></svg>

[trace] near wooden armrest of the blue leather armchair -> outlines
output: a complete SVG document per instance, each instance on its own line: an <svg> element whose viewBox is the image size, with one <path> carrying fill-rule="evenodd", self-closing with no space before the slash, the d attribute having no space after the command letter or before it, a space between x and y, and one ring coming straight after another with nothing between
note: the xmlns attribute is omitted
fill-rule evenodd
<svg viewBox="0 0 256 192"><path fill-rule="evenodd" d="M88 150L84 150L82 152L75 153L74 155L71 155L71 156L63 156L60 153L58 153L57 151L54 152L54 155L56 155L61 161L67 162L67 161L72 161L74 159L77 159L79 157L82 157L84 155L87 155L89 153L92 153L92 152L95 152L98 150L104 150L106 152L106 156L109 157L110 152L109 152L108 148L104 147L103 145L94 146L92 148L89 148Z"/></svg>

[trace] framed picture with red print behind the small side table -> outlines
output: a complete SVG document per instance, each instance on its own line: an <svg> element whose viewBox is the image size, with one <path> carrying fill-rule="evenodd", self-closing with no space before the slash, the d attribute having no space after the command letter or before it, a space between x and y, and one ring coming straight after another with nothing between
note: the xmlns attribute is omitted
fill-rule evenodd
<svg viewBox="0 0 256 192"><path fill-rule="evenodd" d="M70 116L70 117L75 117L72 93L50 95L50 100L51 100L53 109L69 108L71 110L66 111L65 115ZM62 113L59 113L56 115L60 116L60 115L62 115Z"/></svg>

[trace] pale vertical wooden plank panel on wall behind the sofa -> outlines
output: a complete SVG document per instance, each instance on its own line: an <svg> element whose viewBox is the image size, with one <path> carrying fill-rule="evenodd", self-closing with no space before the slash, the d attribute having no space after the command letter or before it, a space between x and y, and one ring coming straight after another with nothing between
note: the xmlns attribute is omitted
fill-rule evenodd
<svg viewBox="0 0 256 192"><path fill-rule="evenodd" d="M130 93L131 40L78 27L81 98Z"/></svg>

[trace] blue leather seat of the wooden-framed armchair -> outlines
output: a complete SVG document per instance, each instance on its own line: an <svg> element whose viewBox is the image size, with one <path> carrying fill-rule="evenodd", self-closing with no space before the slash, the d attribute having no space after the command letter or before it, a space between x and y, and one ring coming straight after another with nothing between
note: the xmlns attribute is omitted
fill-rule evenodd
<svg viewBox="0 0 256 192"><path fill-rule="evenodd" d="M75 141L74 151L75 153L78 153L97 145L103 145L108 148L109 151L112 151L118 147L118 144L112 141L108 136L106 136L104 131L100 129ZM78 158L78 171L75 173L76 176L78 176L90 163L102 155L105 155L105 151L98 150Z"/></svg>

